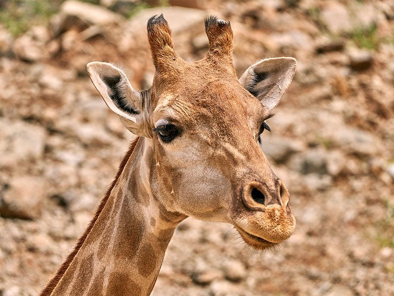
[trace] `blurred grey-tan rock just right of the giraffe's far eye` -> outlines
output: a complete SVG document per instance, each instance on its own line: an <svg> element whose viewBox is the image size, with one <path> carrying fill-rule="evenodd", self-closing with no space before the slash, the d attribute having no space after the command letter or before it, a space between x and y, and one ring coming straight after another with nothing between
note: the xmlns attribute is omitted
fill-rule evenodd
<svg viewBox="0 0 394 296"><path fill-rule="evenodd" d="M277 163L285 163L293 154L304 150L305 147L302 142L294 139L267 137L263 139L261 149Z"/></svg>

